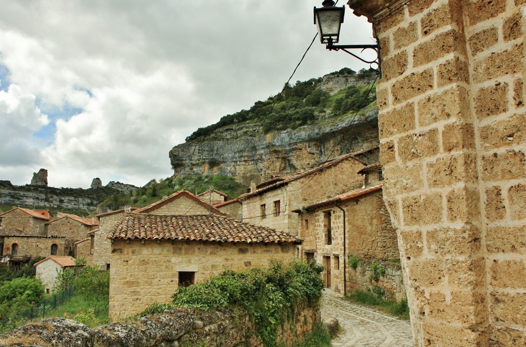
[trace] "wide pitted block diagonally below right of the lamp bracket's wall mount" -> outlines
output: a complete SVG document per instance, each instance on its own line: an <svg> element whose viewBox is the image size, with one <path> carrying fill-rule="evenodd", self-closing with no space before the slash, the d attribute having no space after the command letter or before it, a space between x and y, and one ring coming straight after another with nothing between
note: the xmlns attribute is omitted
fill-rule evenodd
<svg viewBox="0 0 526 347"><path fill-rule="evenodd" d="M433 80L433 69L428 68L422 72L410 73L408 76L396 81L391 87L393 104L400 104L410 98L432 90Z"/></svg>

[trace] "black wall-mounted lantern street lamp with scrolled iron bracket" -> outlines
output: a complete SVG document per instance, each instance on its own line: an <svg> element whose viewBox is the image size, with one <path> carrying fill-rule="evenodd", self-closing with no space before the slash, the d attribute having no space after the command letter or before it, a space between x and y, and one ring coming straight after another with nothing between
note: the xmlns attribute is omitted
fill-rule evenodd
<svg viewBox="0 0 526 347"><path fill-rule="evenodd" d="M337 7L332 0L325 0L321 5L323 7L314 7L314 24L318 28L320 42L325 44L329 51L339 51L341 49L343 52L349 53L362 62L369 64L371 68L373 64L377 65L378 68L373 68L373 70L381 75L380 45L378 43L376 45L335 45L335 43L340 41L340 28L341 23L343 23L345 6ZM365 49L373 49L376 52L376 59L372 61L365 60L347 49L361 49L361 52L365 51Z"/></svg>

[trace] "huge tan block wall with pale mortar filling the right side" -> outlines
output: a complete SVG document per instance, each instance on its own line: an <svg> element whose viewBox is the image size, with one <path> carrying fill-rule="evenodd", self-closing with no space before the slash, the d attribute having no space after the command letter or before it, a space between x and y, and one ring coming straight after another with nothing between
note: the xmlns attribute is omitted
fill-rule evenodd
<svg viewBox="0 0 526 347"><path fill-rule="evenodd" d="M381 45L384 199L417 345L525 343L523 4L350 2Z"/></svg>

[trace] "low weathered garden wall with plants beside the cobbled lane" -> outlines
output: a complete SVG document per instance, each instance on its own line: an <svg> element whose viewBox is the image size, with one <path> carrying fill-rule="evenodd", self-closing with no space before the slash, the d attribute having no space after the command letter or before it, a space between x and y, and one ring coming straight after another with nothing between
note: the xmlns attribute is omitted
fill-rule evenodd
<svg viewBox="0 0 526 347"><path fill-rule="evenodd" d="M380 275L379 280L373 280L373 271L371 264L373 261L360 259L356 270L350 269L347 273L348 286L347 291L356 290L364 292L375 292L375 286L385 291L385 298L400 302L407 299L406 286L403 283L402 266L397 263L374 261L378 266L383 268L384 272Z"/></svg>

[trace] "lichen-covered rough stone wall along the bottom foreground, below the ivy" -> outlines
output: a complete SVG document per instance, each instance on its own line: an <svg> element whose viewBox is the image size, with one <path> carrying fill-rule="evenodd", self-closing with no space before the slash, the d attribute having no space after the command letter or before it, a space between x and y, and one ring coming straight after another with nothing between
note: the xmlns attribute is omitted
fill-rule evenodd
<svg viewBox="0 0 526 347"><path fill-rule="evenodd" d="M298 303L278 327L280 345L296 346L320 323L318 305ZM0 346L260 346L256 327L246 313L175 308L126 323L89 329L66 318L48 318L0 335Z"/></svg>

